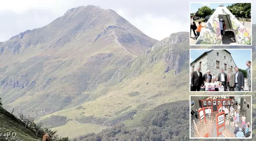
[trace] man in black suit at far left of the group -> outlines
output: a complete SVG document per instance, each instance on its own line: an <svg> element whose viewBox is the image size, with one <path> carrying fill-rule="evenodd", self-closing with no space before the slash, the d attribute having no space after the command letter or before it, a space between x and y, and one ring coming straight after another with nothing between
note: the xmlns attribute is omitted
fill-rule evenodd
<svg viewBox="0 0 256 141"><path fill-rule="evenodd" d="M203 74L200 72L200 67L197 67L196 71L193 72L191 76L192 91L200 91L203 81Z"/></svg>

